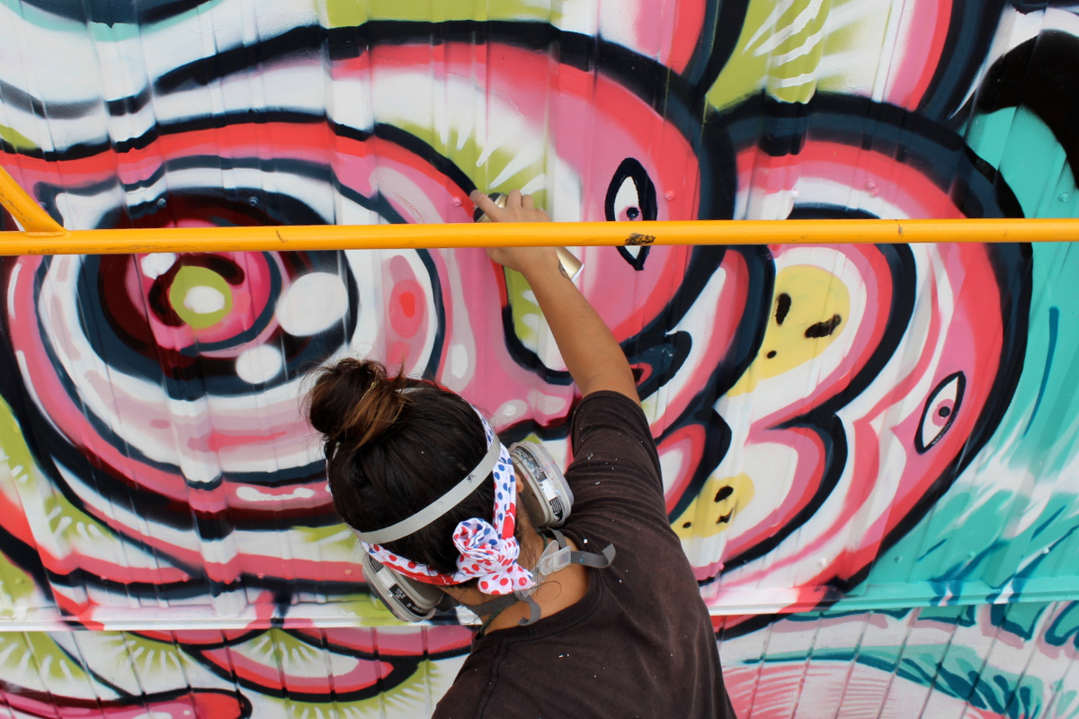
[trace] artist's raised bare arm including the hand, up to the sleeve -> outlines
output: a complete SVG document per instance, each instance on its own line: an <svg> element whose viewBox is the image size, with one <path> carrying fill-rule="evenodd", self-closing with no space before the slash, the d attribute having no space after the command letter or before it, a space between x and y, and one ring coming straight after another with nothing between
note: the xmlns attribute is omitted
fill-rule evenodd
<svg viewBox="0 0 1079 719"><path fill-rule="evenodd" d="M481 192L472 199L493 222L547 222L532 197L513 191L502 208ZM524 275L582 395L609 389L640 399L626 356L606 323L559 268L554 247L491 248L488 257Z"/></svg>

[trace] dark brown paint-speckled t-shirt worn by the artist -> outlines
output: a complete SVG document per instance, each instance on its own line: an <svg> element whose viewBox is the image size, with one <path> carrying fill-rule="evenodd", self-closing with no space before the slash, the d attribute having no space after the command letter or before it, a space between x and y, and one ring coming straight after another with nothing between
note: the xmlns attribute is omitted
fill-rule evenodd
<svg viewBox="0 0 1079 719"><path fill-rule="evenodd" d="M435 719L734 717L644 413L616 392L589 395L573 452L562 531L585 551L613 543L614 564L588 570L572 607L479 638Z"/></svg>

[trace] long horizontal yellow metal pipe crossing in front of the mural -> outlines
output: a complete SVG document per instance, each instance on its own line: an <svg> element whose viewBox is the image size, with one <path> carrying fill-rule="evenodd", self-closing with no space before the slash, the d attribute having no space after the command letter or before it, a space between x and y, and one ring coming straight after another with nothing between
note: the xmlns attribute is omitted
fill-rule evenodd
<svg viewBox="0 0 1079 719"><path fill-rule="evenodd" d="M1079 238L1079 220L701 220L290 225L0 233L0 254L309 251L585 245L1044 243Z"/></svg>

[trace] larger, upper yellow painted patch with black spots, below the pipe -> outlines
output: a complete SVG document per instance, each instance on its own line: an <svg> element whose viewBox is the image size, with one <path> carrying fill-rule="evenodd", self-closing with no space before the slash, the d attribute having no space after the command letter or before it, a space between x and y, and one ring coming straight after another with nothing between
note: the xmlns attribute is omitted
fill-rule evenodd
<svg viewBox="0 0 1079 719"><path fill-rule="evenodd" d="M835 275L811 265L781 269L761 350L727 397L751 392L762 379L820 356L846 329L849 315L850 293Z"/></svg>

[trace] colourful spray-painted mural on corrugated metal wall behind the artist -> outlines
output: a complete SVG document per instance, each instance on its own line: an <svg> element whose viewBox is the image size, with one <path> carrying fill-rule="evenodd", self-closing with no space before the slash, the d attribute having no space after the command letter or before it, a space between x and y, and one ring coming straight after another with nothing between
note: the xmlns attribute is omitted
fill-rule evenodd
<svg viewBox="0 0 1079 719"><path fill-rule="evenodd" d="M0 0L0 165L70 229L468 222L477 188L1076 217L1077 59L1070 2ZM574 250L740 717L1079 717L1070 245ZM0 716L429 714L470 631L371 599L299 412L346 352L572 458L481 250L0 258Z"/></svg>

